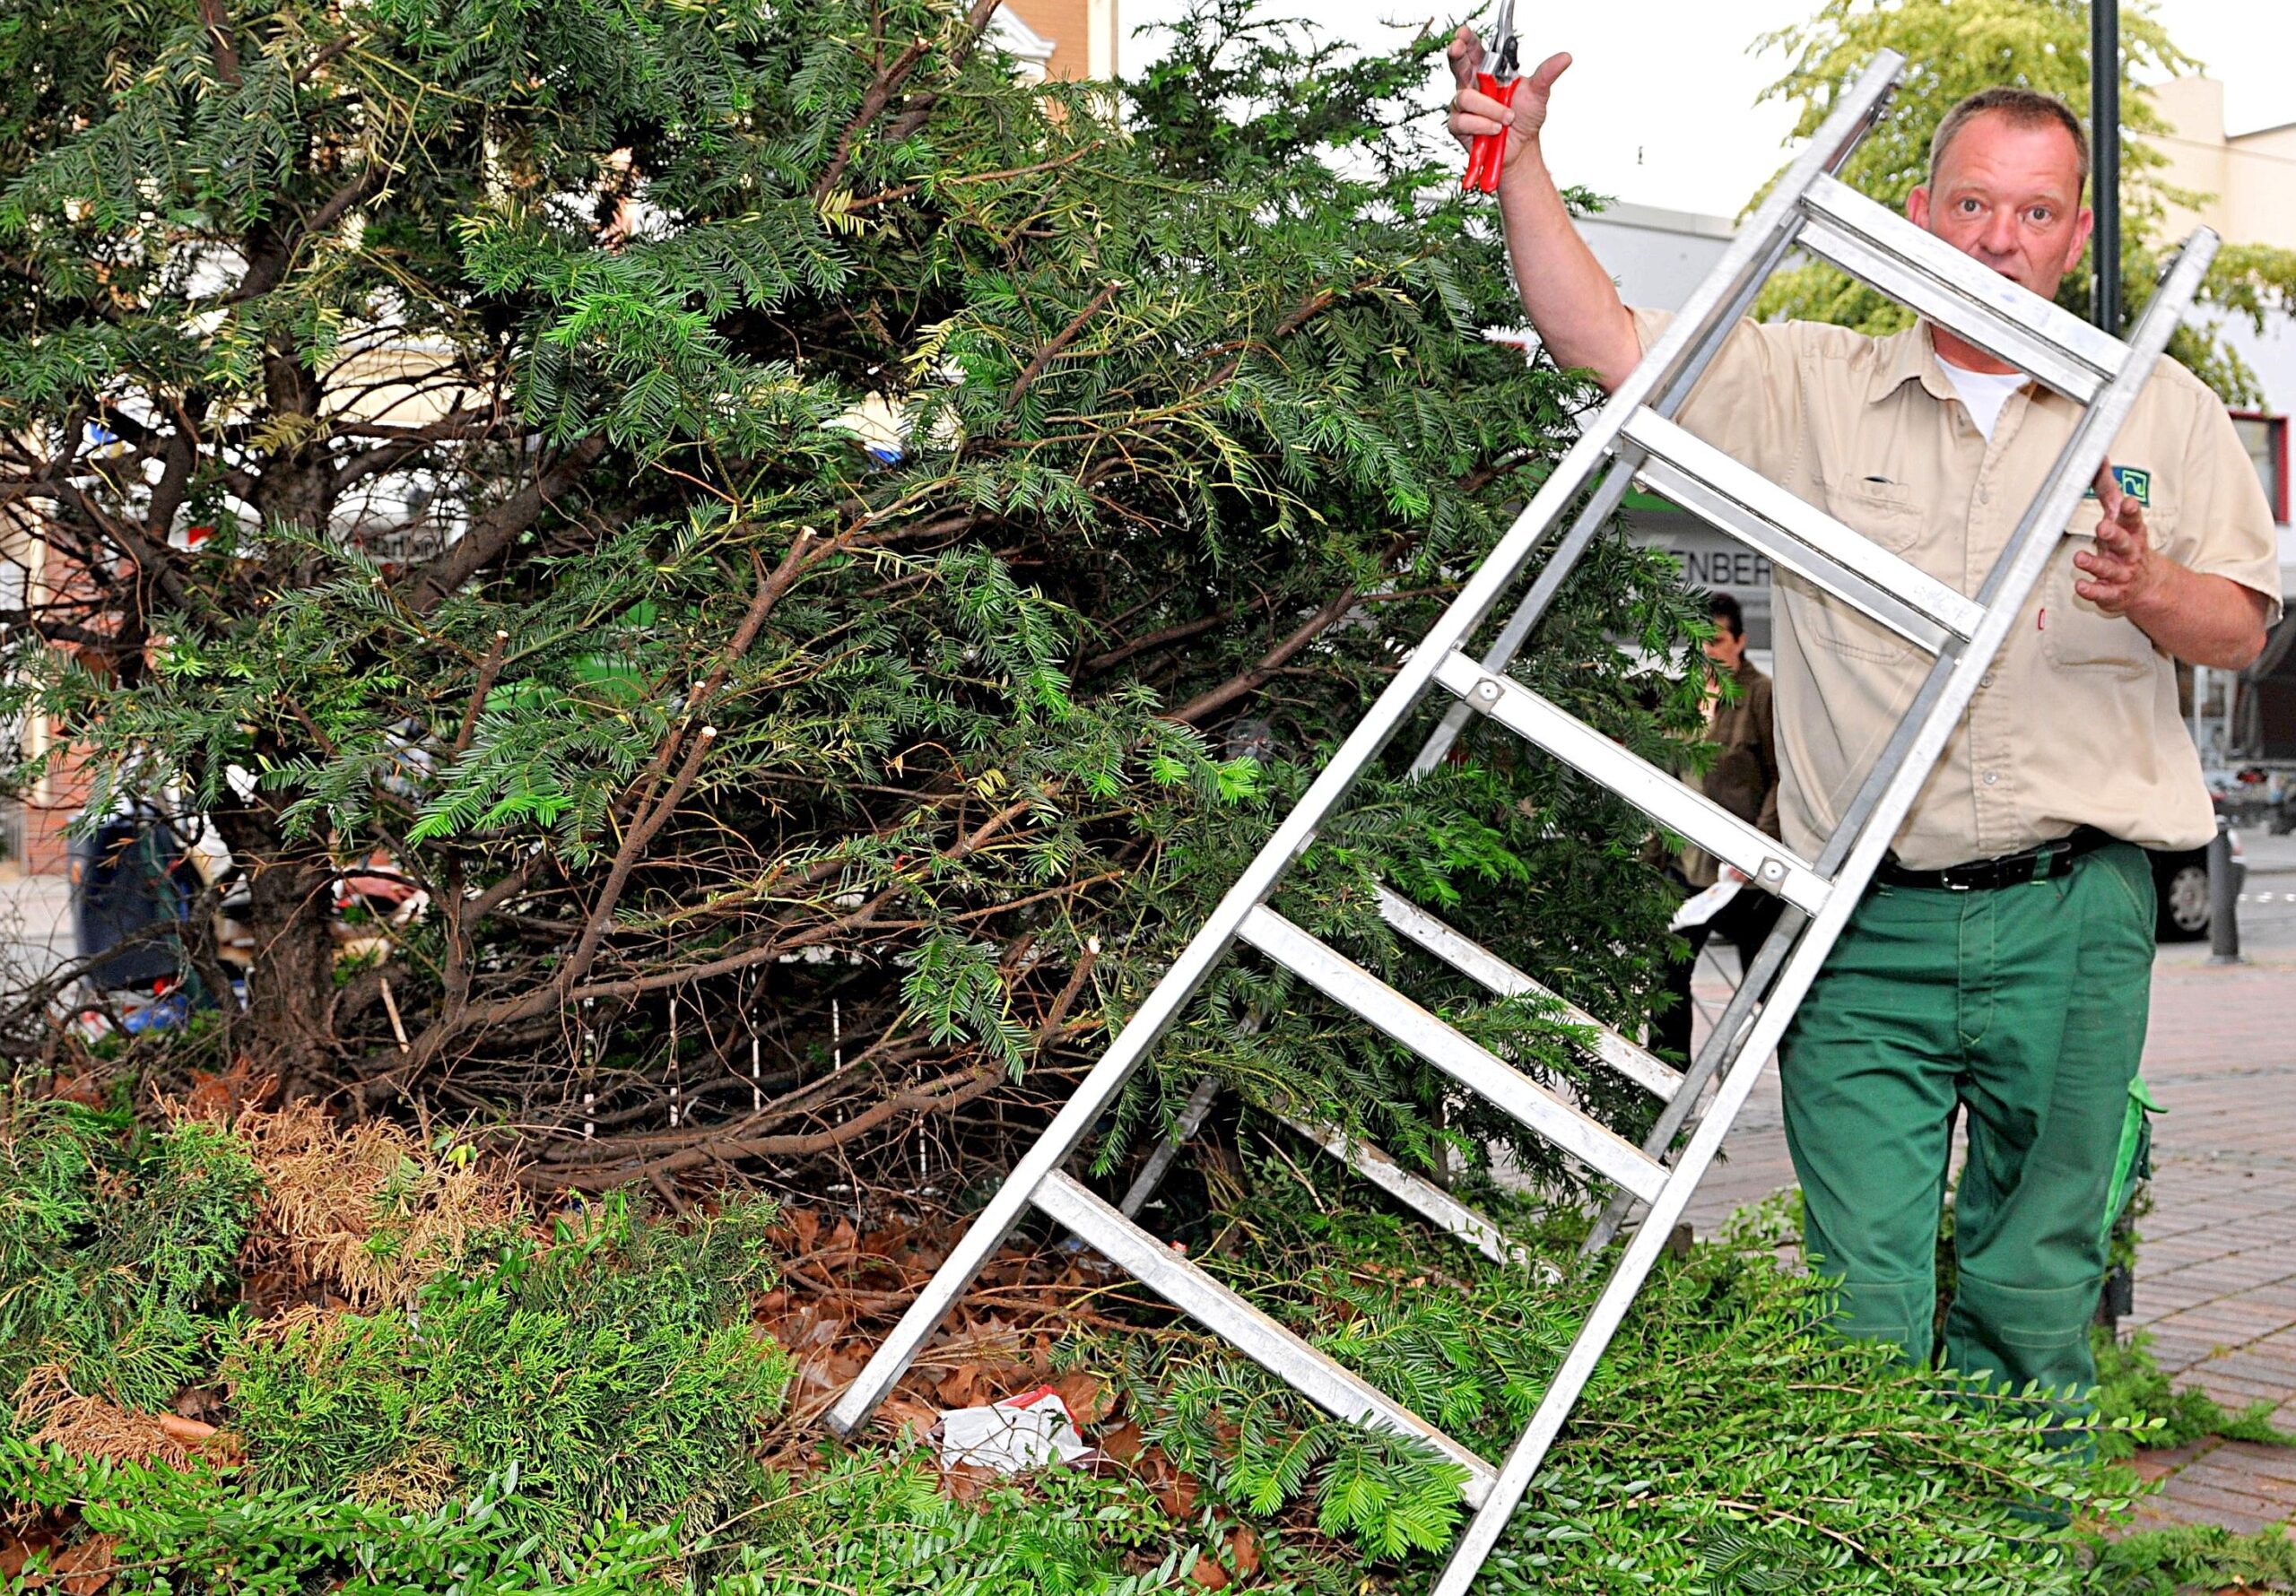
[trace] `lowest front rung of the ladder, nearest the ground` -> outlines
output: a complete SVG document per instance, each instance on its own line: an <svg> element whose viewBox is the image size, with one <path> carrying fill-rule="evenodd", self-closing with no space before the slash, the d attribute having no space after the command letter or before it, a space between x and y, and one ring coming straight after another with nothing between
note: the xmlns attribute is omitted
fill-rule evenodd
<svg viewBox="0 0 2296 1596"><path fill-rule="evenodd" d="M1290 1330L1267 1318L1267 1314L1199 1270L1182 1254L1093 1196L1065 1171L1054 1169L1045 1176L1031 1201L1182 1314L1217 1330L1228 1346L1332 1417L1375 1424L1421 1440L1467 1470L1467 1483L1460 1488L1460 1495L1469 1504L1479 1506L1490 1495L1497 1474L1483 1458L1371 1382L1341 1369Z"/></svg>

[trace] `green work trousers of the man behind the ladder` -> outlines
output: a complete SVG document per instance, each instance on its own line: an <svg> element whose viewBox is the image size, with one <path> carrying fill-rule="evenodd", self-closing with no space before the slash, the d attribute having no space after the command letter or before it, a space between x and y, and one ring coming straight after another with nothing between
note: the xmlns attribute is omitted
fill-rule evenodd
<svg viewBox="0 0 2296 1596"><path fill-rule="evenodd" d="M1805 1249L1837 1327L1931 1362L1954 1118L1961 1284L1945 1364L2087 1392L2105 1201L2144 1049L2154 886L2126 843L2053 882L1874 886L1779 1052Z"/></svg>

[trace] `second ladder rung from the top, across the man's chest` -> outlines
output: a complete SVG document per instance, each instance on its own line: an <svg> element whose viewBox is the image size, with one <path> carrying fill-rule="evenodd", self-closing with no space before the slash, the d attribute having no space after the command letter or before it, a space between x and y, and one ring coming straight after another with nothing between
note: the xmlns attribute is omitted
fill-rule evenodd
<svg viewBox="0 0 2296 1596"><path fill-rule="evenodd" d="M1795 498L1658 411L1635 411L1626 436L1649 457L1635 475L1651 491L1736 533L1795 576L1855 604L1931 654L1945 650L1947 634L1963 641L1977 636L1977 625L1986 618L1977 599Z"/></svg>

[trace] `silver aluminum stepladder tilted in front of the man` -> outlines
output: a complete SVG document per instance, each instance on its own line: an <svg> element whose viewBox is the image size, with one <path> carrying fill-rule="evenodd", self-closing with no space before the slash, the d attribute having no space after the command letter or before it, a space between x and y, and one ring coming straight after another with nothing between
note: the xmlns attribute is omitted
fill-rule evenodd
<svg viewBox="0 0 2296 1596"><path fill-rule="evenodd" d="M1779 177L1713 273L1690 296L1674 326L1651 347L1554 466L1297 808L1244 868L1139 1013L1132 1015L1132 1022L1116 1036L1077 1093L957 1240L893 1334L847 1385L827 1415L836 1433L852 1435L868 1419L916 1353L923 1350L941 1316L1033 1206L1283 1378L1316 1405L1341 1419L1414 1438L1460 1465L1465 1470L1463 1497L1476 1511L1458 1539L1435 1594L1465 1596L1690 1203L1692 1190L1713 1162L1761 1068L1775 1054L1795 1008L1809 992L1809 983L1857 907L1890 840L1968 710L1979 675L2002 648L2009 627L2016 625L2025 597L2041 579L2050 553L2064 537L2066 521L2101 468L2105 448L2128 416L2138 390L2151 377L2170 333L2216 255L2216 234L2195 232L2163 273L2151 303L2124 344L1857 195L1835 172L1887 106L1903 67L1901 55L1885 51L1855 83L1846 85L1816 138ZM2048 482L2027 505L2016 535L1975 599L1883 551L1671 420L1715 349L1752 305L1761 282L1795 248L1841 266L1929 321L1958 333L2085 406ZM1752 544L1775 565L1892 627L1933 657L1906 719L1896 726L1818 859L1795 857L1701 792L1628 753L1506 675L1506 666L1635 480ZM1527 597L1492 648L1481 659L1463 652L1515 579L1531 565L1550 528L1564 521L1582 494L1587 494L1584 508L1541 565ZM1635 804L1667 831L1685 836L1720 861L1736 866L1756 886L1786 902L1777 932L1754 960L1754 969L1747 971L1688 1070L1676 1072L1632 1040L1598 1029L1598 1040L1591 1047L1596 1059L1665 1100L1660 1121L1642 1146L1580 1114L1529 1075L1486 1052L1267 907L1277 882L1316 840L1318 827L1339 808L1357 774L1380 758L1428 689L1437 687L1456 703L1421 749L1412 765L1414 772L1433 769L1469 716L1481 714ZM1380 907L1403 937L1492 992L1543 990L1417 905L1382 893ZM1548 1382L1538 1410L1499 1467L1318 1353L1242 1295L1171 1252L1063 1169L1132 1070L1235 942L1244 942L1295 971L1378 1031L1419 1052L1463 1088L1506 1109L1596 1176L1609 1180L1616 1196L1603 1215L1596 1245L1609 1240L1632 1206L1646 1208L1644 1222L1621 1249L1593 1311ZM1577 1017L1591 1022L1584 1015ZM1674 1139L1708 1086L1713 1086L1713 1098L1704 1116L1669 1162ZM1210 1088L1205 1086L1199 1088L1189 1114L1182 1116L1182 1130L1194 1130L1189 1118L1201 1118L1208 1105ZM1302 1130L1437 1224L1492 1256L1506 1252L1504 1238L1488 1222L1458 1206L1433 1183L1403 1171L1371 1148L1348 1144L1329 1128L1302 1125ZM1401 1176L1401 1180L1391 1176Z"/></svg>

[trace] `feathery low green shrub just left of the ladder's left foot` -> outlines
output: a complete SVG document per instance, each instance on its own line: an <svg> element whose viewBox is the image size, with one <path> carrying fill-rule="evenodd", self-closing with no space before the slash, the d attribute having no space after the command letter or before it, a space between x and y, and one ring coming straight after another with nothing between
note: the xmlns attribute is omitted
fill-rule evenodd
<svg viewBox="0 0 2296 1596"><path fill-rule="evenodd" d="M250 1327L223 1359L248 1483L429 1509L517 1470L501 1511L567 1534L758 1500L751 1463L790 1362L751 1323L774 1275L767 1201L691 1226L606 1196L549 1245L434 1275L411 1311Z"/></svg>

